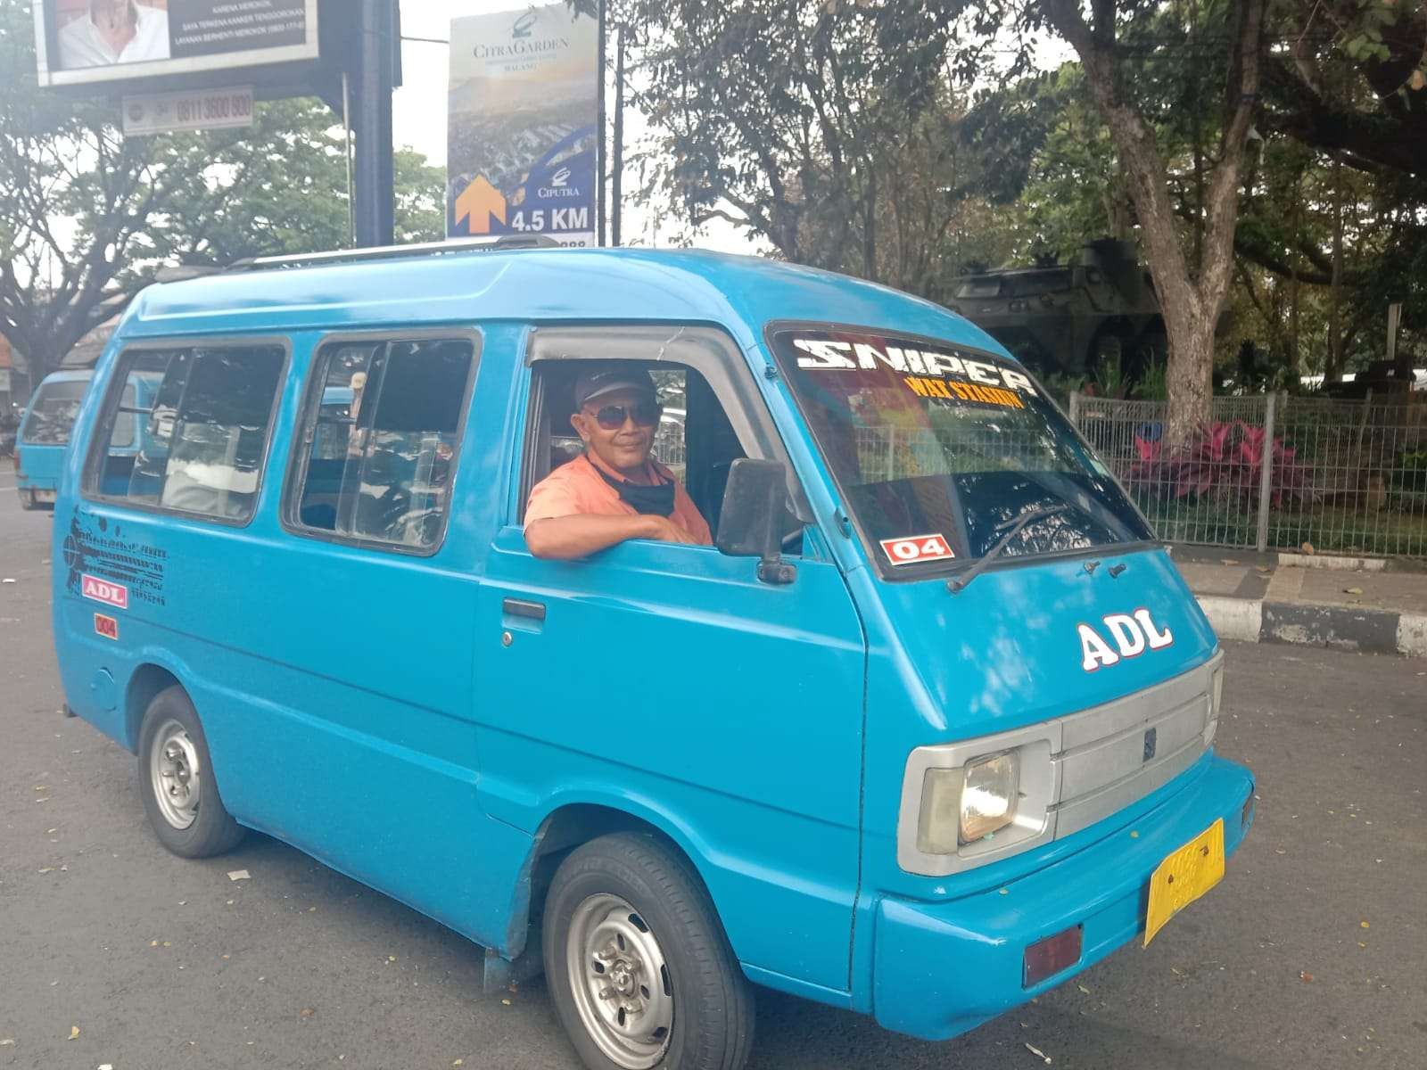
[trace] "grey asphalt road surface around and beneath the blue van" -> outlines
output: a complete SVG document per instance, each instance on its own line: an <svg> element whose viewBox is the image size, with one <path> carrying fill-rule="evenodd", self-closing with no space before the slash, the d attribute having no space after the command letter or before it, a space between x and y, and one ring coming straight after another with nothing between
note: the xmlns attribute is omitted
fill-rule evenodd
<svg viewBox="0 0 1427 1070"><path fill-rule="evenodd" d="M0 1069L577 1067L542 983L482 996L437 923L264 836L158 846L133 758L60 716L51 521L13 485L0 462ZM1226 710L1257 825L1149 949L940 1044L761 990L751 1066L1427 1067L1427 663L1232 646Z"/></svg>

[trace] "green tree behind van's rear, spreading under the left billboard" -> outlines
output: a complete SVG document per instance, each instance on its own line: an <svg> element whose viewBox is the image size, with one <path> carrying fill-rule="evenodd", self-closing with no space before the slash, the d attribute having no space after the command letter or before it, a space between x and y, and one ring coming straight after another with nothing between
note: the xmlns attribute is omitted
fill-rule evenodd
<svg viewBox="0 0 1427 1070"><path fill-rule="evenodd" d="M40 90L30 4L0 0L0 334L31 382L163 264L350 244L344 146L314 100L250 130L124 138L117 110ZM438 240L438 168L397 154L397 233Z"/></svg>

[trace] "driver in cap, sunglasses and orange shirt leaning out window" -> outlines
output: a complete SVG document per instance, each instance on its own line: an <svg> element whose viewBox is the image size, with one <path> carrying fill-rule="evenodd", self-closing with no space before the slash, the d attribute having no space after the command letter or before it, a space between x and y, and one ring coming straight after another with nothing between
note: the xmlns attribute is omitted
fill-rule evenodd
<svg viewBox="0 0 1427 1070"><path fill-rule="evenodd" d="M659 414L649 372L611 362L579 374L569 422L585 452L531 491L525 505L531 554L568 561L625 539L714 542L679 481L649 458Z"/></svg>

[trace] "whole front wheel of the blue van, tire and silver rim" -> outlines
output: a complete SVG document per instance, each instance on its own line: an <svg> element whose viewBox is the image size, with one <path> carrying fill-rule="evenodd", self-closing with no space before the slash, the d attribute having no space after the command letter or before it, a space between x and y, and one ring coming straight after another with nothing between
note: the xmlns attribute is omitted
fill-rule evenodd
<svg viewBox="0 0 1427 1070"><path fill-rule="evenodd" d="M753 996L714 903L652 836L601 836L545 900L545 977L591 1070L739 1070Z"/></svg>

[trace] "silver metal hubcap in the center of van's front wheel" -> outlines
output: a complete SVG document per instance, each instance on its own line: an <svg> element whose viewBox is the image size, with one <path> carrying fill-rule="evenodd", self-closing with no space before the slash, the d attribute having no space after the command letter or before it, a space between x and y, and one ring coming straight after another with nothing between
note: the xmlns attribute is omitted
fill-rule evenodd
<svg viewBox="0 0 1427 1070"><path fill-rule="evenodd" d="M569 989L585 1031L626 1070L648 1070L669 1046L674 986L659 942L619 896L575 907L565 944Z"/></svg>

